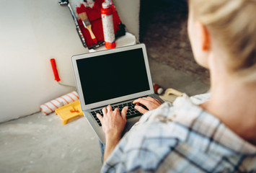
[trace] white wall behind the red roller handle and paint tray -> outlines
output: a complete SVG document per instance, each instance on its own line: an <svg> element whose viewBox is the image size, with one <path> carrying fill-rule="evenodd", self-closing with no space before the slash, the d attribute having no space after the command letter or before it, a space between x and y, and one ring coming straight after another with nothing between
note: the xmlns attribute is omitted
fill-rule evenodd
<svg viewBox="0 0 256 173"><path fill-rule="evenodd" d="M125 7L117 4L118 11ZM137 36L138 13L133 12L135 19L118 13ZM41 104L73 91L54 81L50 58L56 58L61 82L74 85L70 58L86 52L68 7L58 0L1 0L0 122L37 112Z"/></svg>

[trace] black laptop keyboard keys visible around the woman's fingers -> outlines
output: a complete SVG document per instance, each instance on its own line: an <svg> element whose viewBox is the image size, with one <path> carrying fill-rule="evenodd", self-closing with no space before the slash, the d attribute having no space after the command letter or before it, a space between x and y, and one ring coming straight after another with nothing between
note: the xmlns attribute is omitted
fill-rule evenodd
<svg viewBox="0 0 256 173"><path fill-rule="evenodd" d="M138 112L138 110L136 110L134 108L135 105L133 104L133 102L127 102L127 103L124 103L124 104L121 104L121 105L114 105L114 106L112 106L112 110L115 110L115 108L118 108L120 111L122 111L123 107L125 107L125 106L128 106L126 119L142 115L140 112ZM96 111L92 111L90 113L92 114L94 119L97 121L98 125L102 126L102 124L100 123L100 120L96 116L97 113L100 113L100 115L103 116L102 110L96 110Z"/></svg>

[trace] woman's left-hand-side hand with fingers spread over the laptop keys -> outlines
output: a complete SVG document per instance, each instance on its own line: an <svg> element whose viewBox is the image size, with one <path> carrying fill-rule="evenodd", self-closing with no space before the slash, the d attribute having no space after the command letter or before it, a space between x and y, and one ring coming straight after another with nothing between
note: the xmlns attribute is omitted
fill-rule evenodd
<svg viewBox="0 0 256 173"><path fill-rule="evenodd" d="M103 117L99 113L97 113L97 117L102 124L102 130L105 133L106 138L108 136L121 138L121 134L123 133L123 129L126 124L126 113L128 107L124 107L121 114L118 108L112 110L112 106L108 105L107 108L104 107L102 109Z"/></svg>

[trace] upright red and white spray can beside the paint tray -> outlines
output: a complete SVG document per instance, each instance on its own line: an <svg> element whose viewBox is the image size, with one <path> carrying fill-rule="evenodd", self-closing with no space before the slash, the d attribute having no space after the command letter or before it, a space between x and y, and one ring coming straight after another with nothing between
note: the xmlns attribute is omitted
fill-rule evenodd
<svg viewBox="0 0 256 173"><path fill-rule="evenodd" d="M102 3L102 26L105 40L105 47L107 49L115 48L115 30L112 16L112 9L109 3Z"/></svg>

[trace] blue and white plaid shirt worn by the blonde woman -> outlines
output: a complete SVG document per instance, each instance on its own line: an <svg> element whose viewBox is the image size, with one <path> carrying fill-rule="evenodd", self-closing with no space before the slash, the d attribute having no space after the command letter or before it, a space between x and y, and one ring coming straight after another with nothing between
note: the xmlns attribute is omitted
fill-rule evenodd
<svg viewBox="0 0 256 173"><path fill-rule="evenodd" d="M256 172L256 147L184 95L142 116L102 172Z"/></svg>

